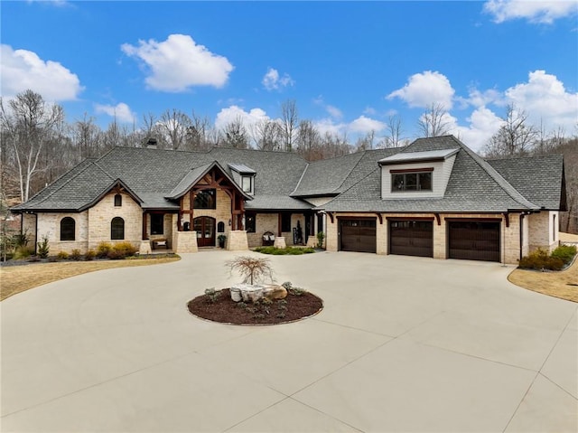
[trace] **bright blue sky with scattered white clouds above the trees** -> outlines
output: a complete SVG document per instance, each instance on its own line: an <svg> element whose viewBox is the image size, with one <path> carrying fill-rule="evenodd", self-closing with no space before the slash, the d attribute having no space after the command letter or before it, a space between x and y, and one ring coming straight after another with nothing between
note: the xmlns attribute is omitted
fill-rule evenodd
<svg viewBox="0 0 578 433"><path fill-rule="evenodd" d="M177 109L216 127L299 118L350 142L432 104L480 151L508 105L578 134L578 2L2 1L1 95L67 120L143 126Z"/></svg>

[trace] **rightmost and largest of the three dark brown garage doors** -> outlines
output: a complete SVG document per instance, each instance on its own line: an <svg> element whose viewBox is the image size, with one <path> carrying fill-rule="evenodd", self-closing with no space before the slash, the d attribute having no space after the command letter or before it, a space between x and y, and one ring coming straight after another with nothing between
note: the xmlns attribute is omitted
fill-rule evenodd
<svg viewBox="0 0 578 433"><path fill-rule="evenodd" d="M499 261L499 221L449 221L450 259Z"/></svg>

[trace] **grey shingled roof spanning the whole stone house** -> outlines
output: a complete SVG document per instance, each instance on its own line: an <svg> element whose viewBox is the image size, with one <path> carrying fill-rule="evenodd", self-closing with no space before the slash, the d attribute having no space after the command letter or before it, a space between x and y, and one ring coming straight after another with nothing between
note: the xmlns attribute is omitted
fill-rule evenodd
<svg viewBox="0 0 578 433"><path fill-rule="evenodd" d="M381 198L378 161L413 152L457 151L443 198ZM403 155L401 155L403 156ZM400 157L401 157L400 156ZM178 210L176 199L218 165L254 169L255 194L247 210L312 209L308 197L334 196L316 209L329 212L508 212L564 208L562 156L486 161L453 136L420 138L403 148L377 149L307 163L299 155L216 147L181 152L116 147L87 159L14 212L80 212L121 183L143 209ZM248 198L248 197L247 197Z"/></svg>

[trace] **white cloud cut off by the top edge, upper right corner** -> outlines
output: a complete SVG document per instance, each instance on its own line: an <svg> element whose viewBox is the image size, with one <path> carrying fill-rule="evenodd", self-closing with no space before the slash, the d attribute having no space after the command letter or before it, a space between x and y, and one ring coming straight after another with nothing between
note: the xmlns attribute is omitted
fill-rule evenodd
<svg viewBox="0 0 578 433"><path fill-rule="evenodd" d="M530 23L552 24L558 18L576 14L578 4L572 0L489 0L484 4L484 12L493 15L495 23L522 18Z"/></svg>

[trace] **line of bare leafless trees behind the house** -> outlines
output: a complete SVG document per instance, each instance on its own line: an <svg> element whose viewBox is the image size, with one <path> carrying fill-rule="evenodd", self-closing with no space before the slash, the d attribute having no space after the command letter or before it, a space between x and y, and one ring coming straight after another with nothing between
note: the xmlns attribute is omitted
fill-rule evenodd
<svg viewBox="0 0 578 433"><path fill-rule="evenodd" d="M508 106L499 131L483 153L487 157L514 157L562 153L565 158L568 207L572 216L562 218L563 230L578 230L578 128L573 136L563 129L547 132L534 127L527 113ZM577 125L578 126L578 125ZM447 111L430 105L416 124L420 136L443 136L451 132ZM106 129L85 116L67 122L64 109L51 104L33 90L14 99L0 99L0 184L3 205L24 202L58 176L86 158L103 155L115 146L147 146L154 140L162 149L206 151L211 147L256 148L295 152L315 161L360 150L406 146L402 119L387 118L385 135L370 131L351 141L347 134L322 133L311 119L300 118L294 100L281 104L278 118L246 125L234 118L217 128L208 117L167 109L160 115L144 115L142 127L120 125L114 119ZM564 227L565 224L565 227Z"/></svg>

